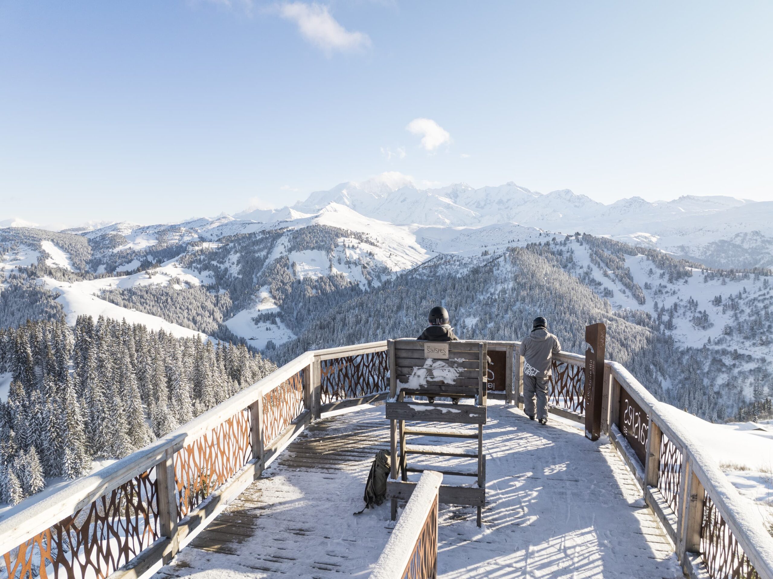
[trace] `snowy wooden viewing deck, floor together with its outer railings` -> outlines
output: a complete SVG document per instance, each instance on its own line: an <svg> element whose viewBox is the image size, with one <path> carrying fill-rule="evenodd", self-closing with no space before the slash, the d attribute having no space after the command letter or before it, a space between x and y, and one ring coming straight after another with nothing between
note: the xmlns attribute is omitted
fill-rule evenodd
<svg viewBox="0 0 773 579"><path fill-rule="evenodd" d="M472 417L472 408L388 403L410 407L404 414L414 421L410 482L426 468L397 524L388 499L352 515L373 455L390 448L384 407L364 404L394 387L394 356L387 342L342 346L303 353L147 447L5 513L0 579L773 579L773 537L761 514L673 408L604 360L598 343L595 358L554 356L547 426L513 404L523 388L519 342L476 343L499 359L506 400L463 400L485 423L448 427L469 435L439 441L417 419ZM420 358L400 368L409 382L425 362L437 366L426 350ZM462 451L480 424L482 454ZM475 464L475 478L451 474ZM441 500L478 482L481 528L476 507ZM408 489L390 483L400 497Z"/></svg>

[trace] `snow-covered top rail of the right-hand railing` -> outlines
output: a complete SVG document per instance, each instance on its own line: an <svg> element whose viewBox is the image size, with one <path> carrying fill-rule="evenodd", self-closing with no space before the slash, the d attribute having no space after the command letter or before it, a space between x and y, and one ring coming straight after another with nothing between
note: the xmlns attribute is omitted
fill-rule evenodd
<svg viewBox="0 0 773 579"><path fill-rule="evenodd" d="M773 537L765 530L763 516L758 509L744 504L744 499L741 499L737 489L727 480L720 465L713 458L711 449L706 448L673 416L673 407L656 400L625 366L610 360L606 360L605 365L642 410L649 414L650 419L666 433L669 440L679 446L686 458L689 458L690 466L700 484L709 493L714 506L730 527L754 569L761 577L773 577Z"/></svg>

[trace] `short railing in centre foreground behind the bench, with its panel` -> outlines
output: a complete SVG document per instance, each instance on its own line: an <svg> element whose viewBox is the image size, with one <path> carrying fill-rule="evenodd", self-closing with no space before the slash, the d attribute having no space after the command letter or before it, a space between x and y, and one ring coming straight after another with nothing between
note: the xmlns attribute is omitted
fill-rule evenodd
<svg viewBox="0 0 773 579"><path fill-rule="evenodd" d="M370 579L438 577L438 491L443 475L424 471L397 519Z"/></svg>

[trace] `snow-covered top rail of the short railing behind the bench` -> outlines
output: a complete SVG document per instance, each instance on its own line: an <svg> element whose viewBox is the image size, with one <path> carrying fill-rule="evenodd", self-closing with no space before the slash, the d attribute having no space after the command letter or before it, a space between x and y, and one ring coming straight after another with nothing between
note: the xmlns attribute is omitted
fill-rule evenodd
<svg viewBox="0 0 773 579"><path fill-rule="evenodd" d="M400 579L414 553L414 545L443 482L439 472L424 471L403 514L394 526L370 579Z"/></svg>

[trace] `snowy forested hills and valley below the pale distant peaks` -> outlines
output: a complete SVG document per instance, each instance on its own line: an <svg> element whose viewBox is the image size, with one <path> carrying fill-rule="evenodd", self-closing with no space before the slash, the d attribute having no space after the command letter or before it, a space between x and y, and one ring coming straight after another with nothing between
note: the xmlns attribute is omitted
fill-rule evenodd
<svg viewBox="0 0 773 579"><path fill-rule="evenodd" d="M286 217L0 230L0 499L125 455L306 349L418 335L438 302L464 338L521 339L544 315L577 353L603 321L607 356L659 399L773 417L767 269L516 223Z"/></svg>

